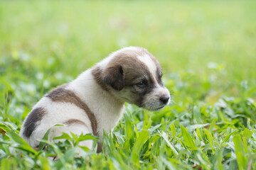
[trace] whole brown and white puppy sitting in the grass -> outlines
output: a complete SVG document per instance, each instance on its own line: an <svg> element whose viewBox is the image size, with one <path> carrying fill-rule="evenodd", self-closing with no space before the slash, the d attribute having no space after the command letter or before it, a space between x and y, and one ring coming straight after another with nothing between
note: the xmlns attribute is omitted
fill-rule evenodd
<svg viewBox="0 0 256 170"><path fill-rule="evenodd" d="M43 96L28 113L21 137L37 147L49 128L49 139L63 132L103 136L119 122L124 102L149 111L170 102L169 91L161 81L156 58L142 47L124 47L82 72L69 84L58 86ZM80 145L92 149L92 141ZM100 150L100 148L98 149Z"/></svg>

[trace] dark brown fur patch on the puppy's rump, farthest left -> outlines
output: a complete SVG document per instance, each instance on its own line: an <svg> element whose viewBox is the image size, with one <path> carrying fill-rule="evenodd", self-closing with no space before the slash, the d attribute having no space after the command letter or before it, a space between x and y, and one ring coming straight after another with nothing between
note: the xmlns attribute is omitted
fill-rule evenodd
<svg viewBox="0 0 256 170"><path fill-rule="evenodd" d="M30 137L33 130L36 129L38 121L42 120L44 115L46 115L46 111L43 108L34 108L26 118L23 135Z"/></svg>

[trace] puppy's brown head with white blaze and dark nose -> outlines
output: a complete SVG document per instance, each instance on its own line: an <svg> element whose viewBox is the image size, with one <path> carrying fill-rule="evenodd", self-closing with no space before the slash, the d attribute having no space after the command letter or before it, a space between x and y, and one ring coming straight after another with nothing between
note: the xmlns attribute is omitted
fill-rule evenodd
<svg viewBox="0 0 256 170"><path fill-rule="evenodd" d="M125 47L112 53L101 74L102 81L122 101L149 111L157 111L170 102L159 62L142 47Z"/></svg>

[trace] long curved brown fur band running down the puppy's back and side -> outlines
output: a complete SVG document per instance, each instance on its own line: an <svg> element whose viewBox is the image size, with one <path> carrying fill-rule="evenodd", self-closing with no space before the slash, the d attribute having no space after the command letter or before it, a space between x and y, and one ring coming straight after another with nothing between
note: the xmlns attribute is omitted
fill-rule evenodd
<svg viewBox="0 0 256 170"><path fill-rule="evenodd" d="M84 103L78 96L76 96L73 91L65 89L65 86L59 86L56 89L50 91L46 97L55 102L73 103L75 106L82 108L82 110L85 111L88 118L90 119L93 135L97 135L97 120L94 113L90 111L90 108L87 106L87 104Z"/></svg>

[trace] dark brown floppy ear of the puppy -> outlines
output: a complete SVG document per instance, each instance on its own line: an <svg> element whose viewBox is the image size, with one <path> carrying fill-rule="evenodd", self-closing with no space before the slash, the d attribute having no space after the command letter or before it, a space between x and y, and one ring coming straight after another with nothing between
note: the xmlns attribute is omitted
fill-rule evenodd
<svg viewBox="0 0 256 170"><path fill-rule="evenodd" d="M102 81L120 91L124 88L124 72L122 66L110 66L102 72Z"/></svg>

